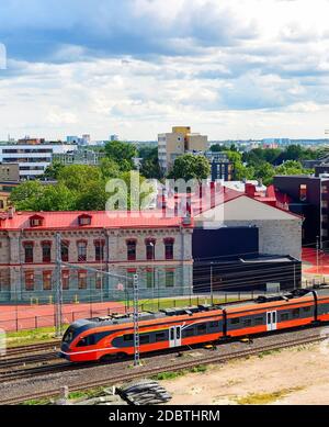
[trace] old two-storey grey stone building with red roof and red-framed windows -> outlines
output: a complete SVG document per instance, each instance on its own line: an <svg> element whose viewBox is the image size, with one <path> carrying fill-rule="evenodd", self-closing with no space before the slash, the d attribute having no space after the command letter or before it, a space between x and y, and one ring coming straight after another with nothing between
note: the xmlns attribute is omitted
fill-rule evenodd
<svg viewBox="0 0 329 427"><path fill-rule="evenodd" d="M9 212L0 220L0 299L52 301L59 251L65 302L131 300L136 273L140 299L190 294L192 231L182 218L140 213Z"/></svg>

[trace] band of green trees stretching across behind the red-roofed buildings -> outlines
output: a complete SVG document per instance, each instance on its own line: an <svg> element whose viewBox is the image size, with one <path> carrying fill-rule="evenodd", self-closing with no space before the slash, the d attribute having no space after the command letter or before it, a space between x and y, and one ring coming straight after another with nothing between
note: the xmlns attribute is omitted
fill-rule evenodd
<svg viewBox="0 0 329 427"><path fill-rule="evenodd" d="M310 173L303 168L302 160L315 159L320 150L311 150L299 145L286 149L254 148L239 153L235 145L230 147L213 145L214 153L224 151L234 165L234 179L258 179L265 186L273 182L275 175ZM209 161L202 155L185 154L175 159L171 171L163 176L158 161L157 147L141 147L123 142L111 142L103 148L105 157L100 166L69 165L53 162L45 171L47 181L26 181L11 193L11 202L19 211L102 211L105 209L109 193L106 182L118 178L129 188L131 171L136 170L134 158L139 158L138 179L164 180L164 178L204 180L211 175ZM54 181L49 183L49 181ZM128 200L129 206L129 200Z"/></svg>

